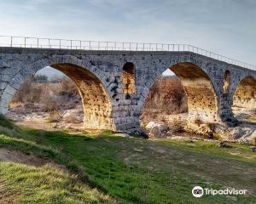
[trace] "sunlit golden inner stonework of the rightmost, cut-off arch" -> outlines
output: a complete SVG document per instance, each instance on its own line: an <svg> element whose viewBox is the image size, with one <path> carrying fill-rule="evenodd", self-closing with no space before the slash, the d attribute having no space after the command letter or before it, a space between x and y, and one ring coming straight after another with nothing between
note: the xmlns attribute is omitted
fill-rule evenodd
<svg viewBox="0 0 256 204"><path fill-rule="evenodd" d="M256 110L256 79L244 77L236 87L233 95L233 105L249 110Z"/></svg>

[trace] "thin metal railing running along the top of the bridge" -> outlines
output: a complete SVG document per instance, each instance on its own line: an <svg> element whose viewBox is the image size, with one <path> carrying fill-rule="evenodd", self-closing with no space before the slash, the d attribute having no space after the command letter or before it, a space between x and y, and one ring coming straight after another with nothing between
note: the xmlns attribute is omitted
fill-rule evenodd
<svg viewBox="0 0 256 204"><path fill-rule="evenodd" d="M187 51L201 54L212 59L238 65L256 71L256 65L241 62L236 59L224 57L202 48L188 44L165 44L143 42L98 42L67 39L51 39L39 37L9 37L0 36L0 47L12 48L59 48L59 49L83 49L83 50L124 50L124 51Z"/></svg>

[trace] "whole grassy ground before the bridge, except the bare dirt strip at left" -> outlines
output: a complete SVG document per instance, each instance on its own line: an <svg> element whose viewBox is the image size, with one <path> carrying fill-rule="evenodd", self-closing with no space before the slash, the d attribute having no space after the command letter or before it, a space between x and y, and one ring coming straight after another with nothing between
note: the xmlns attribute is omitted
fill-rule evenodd
<svg viewBox="0 0 256 204"><path fill-rule="evenodd" d="M64 165L0 162L0 192L17 203L255 203L256 154L245 144L70 134L15 127L1 116L0 146ZM76 175L76 176L74 176ZM195 185L247 190L203 195ZM1 200L0 200L1 201Z"/></svg>

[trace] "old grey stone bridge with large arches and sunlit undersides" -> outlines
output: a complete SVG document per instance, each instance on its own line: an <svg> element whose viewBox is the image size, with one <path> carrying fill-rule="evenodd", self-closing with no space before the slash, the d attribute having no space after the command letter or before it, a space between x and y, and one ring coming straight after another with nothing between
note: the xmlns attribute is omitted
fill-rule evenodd
<svg viewBox="0 0 256 204"><path fill-rule="evenodd" d="M20 85L45 66L62 71L76 83L85 128L139 128L149 90L167 69L177 75L186 91L191 128L195 121L235 125L233 104L256 109L256 71L202 54L2 47L1 113L8 111Z"/></svg>

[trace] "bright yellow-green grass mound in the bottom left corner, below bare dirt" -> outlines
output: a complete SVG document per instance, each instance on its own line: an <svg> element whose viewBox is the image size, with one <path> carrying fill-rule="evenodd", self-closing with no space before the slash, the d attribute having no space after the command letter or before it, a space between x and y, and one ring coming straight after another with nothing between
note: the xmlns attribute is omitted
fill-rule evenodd
<svg viewBox="0 0 256 204"><path fill-rule="evenodd" d="M81 184L78 178L51 166L28 167L0 162L0 178L18 203L113 203L108 195ZM11 189L9 187L11 186Z"/></svg>

